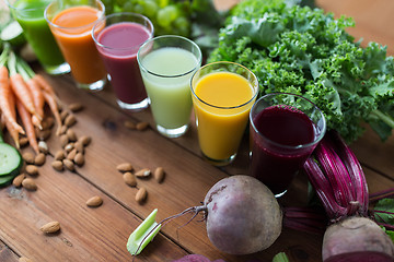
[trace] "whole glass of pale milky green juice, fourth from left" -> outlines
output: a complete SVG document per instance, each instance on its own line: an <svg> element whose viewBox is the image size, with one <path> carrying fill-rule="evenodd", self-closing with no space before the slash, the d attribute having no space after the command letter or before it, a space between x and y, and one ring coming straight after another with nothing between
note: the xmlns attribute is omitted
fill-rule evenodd
<svg viewBox="0 0 394 262"><path fill-rule="evenodd" d="M182 36L146 41L137 59L158 131L169 138L184 134L192 115L189 83L201 66L201 50Z"/></svg>

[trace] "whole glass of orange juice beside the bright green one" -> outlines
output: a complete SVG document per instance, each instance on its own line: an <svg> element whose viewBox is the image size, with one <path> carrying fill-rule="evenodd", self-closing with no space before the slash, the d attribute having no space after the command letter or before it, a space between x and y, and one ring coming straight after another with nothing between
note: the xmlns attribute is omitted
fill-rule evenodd
<svg viewBox="0 0 394 262"><path fill-rule="evenodd" d="M57 40L71 74L81 88L100 91L106 70L92 38L92 28L105 15L100 0L53 1L44 16Z"/></svg>

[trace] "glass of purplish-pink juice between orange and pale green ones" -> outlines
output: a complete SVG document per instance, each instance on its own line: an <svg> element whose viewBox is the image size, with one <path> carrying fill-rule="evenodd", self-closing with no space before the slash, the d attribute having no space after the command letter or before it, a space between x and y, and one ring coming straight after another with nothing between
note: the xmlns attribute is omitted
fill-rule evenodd
<svg viewBox="0 0 394 262"><path fill-rule="evenodd" d="M137 13L114 13L93 27L92 37L123 109L137 111L149 106L137 52L153 37L153 31L152 22Z"/></svg>

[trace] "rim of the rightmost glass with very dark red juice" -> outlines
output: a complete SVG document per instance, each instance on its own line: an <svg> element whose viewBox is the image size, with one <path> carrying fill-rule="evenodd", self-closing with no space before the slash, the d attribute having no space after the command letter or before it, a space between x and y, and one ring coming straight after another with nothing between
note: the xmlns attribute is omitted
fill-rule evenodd
<svg viewBox="0 0 394 262"><path fill-rule="evenodd" d="M321 130L320 134L310 143L305 143L305 144L298 144L298 145L286 145L286 144L281 144L281 143L278 143L278 142L275 142L270 139L268 139L266 135L262 134L258 129L256 128L256 126L254 124L254 121L253 121L253 118L252 118L252 112L254 111L254 108L257 106L257 104L263 100L264 98L266 97L269 97L269 96L276 96L276 95L289 95L289 96L296 96L296 97L299 97L303 100L306 100L308 103L312 104L313 105L313 108L316 109L318 111L318 114L322 116L322 119L323 119L323 129ZM305 112L304 112L305 114ZM308 118L310 118L308 116ZM311 120L312 121L312 120ZM275 146L280 146L282 148L288 148L288 150L300 150L300 148L305 148L305 147L310 147L314 144L318 144L318 142L323 139L323 136L325 135L325 132L326 132L326 129L327 129L327 123L326 123L326 119L324 117L324 114L323 111L316 106L316 104L314 104L313 102L311 102L310 99L301 96L301 95L297 95L297 94L292 94L292 93L280 93L280 92L276 92L276 93L268 93L268 94L265 94L264 96L259 97L256 103L252 106L251 108L251 111L250 111L250 122L251 122L251 126L253 128L253 130L262 138L264 138L265 140L267 140L270 144L275 145ZM313 123L314 124L314 123ZM314 124L315 126L315 124ZM317 127L314 127L314 129L316 129Z"/></svg>

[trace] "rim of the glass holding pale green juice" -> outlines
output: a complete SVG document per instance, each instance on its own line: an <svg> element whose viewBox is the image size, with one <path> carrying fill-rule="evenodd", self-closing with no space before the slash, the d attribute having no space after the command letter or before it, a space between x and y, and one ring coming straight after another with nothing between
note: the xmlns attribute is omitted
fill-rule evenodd
<svg viewBox="0 0 394 262"><path fill-rule="evenodd" d="M162 38L174 38L174 39L177 38L177 39L187 41L187 43L192 44L194 47L196 47L197 50L198 50L198 56L199 56L199 57L197 58L196 66L195 66L193 69L188 70L187 72L184 72L184 73L181 73L181 74L171 74L171 75L159 74L159 73L152 72L151 70L148 70L148 69L143 66L143 63L142 63L142 61L141 61L141 59L140 59L141 49L142 49L144 46L149 45L150 43L154 43L155 40L160 40L160 39L162 39ZM193 53L193 55L195 55L195 53ZM163 78L163 79L181 78L181 76L184 76L184 75L187 75L187 74L192 73L193 71L195 71L197 68L200 67L201 61L202 61L202 52L201 52L201 49L199 48L199 46L198 46L196 43L194 43L193 40L190 40L190 39L188 39L188 38L186 38L186 37L178 36L178 35L161 35L161 36L157 36L157 37L153 37L153 38L150 38L150 39L146 40L146 41L140 46L140 48L139 48L139 50L138 50L138 52L137 52L137 61L138 61L138 64L141 67L142 70L147 71L148 73L150 73L150 74L152 74L152 75L154 75L154 76Z"/></svg>

